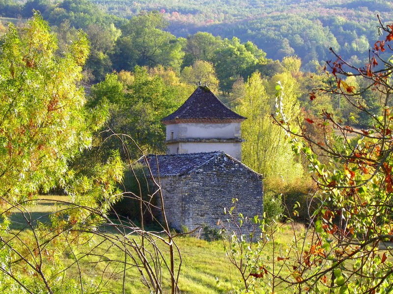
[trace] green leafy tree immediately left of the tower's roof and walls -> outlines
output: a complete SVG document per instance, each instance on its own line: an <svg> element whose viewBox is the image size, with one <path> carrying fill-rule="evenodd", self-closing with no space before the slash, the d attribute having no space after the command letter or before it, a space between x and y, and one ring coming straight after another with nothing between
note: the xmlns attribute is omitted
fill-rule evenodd
<svg viewBox="0 0 393 294"><path fill-rule="evenodd" d="M126 159L129 156L131 160L140 157L140 149L148 153L165 152L165 127L161 119L173 112L184 99L182 96L188 94L182 93L181 87L179 84L166 85L158 74L150 75L146 68L140 67L132 73L130 84L123 84L112 73L94 85L90 105L109 101L111 109L108 121L111 131L102 133L102 139L107 138L106 146L120 149L122 157ZM129 136L123 140L127 142L127 152L130 153L126 153L122 144L116 143L112 132Z"/></svg>

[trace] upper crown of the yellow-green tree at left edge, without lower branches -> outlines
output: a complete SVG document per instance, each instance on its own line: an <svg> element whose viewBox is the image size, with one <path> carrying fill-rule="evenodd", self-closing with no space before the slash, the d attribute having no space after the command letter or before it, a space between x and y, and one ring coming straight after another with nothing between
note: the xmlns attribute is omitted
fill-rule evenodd
<svg viewBox="0 0 393 294"><path fill-rule="evenodd" d="M55 53L56 38L38 15L21 36L9 25L2 38L0 190L13 201L64 181L67 160L90 145L100 124L75 84L88 53L84 35L63 58Z"/></svg>

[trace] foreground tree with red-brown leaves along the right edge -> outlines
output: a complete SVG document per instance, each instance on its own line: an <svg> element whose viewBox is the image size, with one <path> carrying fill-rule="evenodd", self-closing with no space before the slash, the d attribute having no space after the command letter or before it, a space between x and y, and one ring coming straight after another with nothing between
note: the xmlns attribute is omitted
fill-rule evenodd
<svg viewBox="0 0 393 294"><path fill-rule="evenodd" d="M392 114L391 76L393 25L380 21L379 29L385 39L375 43L369 62L357 68L345 61L336 51L328 62L328 74L334 78L328 89L310 93L310 100L318 99L319 92L340 95L354 110L369 117L371 124L353 129L331 113L324 111L318 123L324 131L323 144L304 131L304 125L289 123L281 114L276 122L292 138L293 149L309 161L311 175L318 185L320 208L311 222L314 232L309 236L310 247L300 252L301 259L289 257L283 264L292 266L292 277L286 279L298 289L335 293L390 293L393 264L386 245L392 234ZM365 80L365 88L351 82L354 77ZM282 89L279 88L279 91ZM374 115L366 107L362 94L377 93L381 111ZM282 98L283 96L281 96ZM337 144L325 131L333 128L341 134ZM357 135L351 140L353 135ZM330 158L322 164L319 156Z"/></svg>

